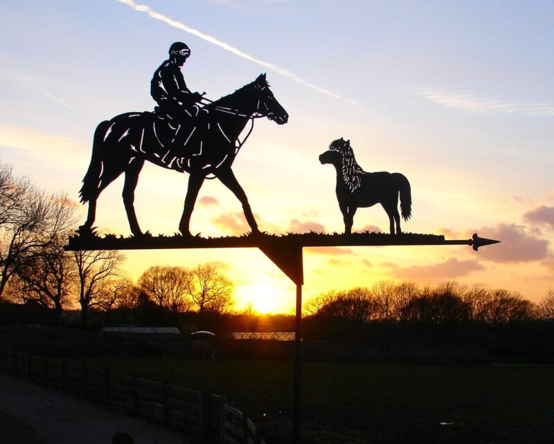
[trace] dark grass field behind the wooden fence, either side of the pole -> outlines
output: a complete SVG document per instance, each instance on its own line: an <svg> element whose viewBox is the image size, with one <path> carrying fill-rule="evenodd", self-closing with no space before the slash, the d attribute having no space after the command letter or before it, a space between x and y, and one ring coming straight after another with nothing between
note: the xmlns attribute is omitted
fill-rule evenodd
<svg viewBox="0 0 554 444"><path fill-rule="evenodd" d="M269 443L289 443L292 363L94 358L89 365L208 383ZM303 363L303 443L554 443L554 367Z"/></svg>

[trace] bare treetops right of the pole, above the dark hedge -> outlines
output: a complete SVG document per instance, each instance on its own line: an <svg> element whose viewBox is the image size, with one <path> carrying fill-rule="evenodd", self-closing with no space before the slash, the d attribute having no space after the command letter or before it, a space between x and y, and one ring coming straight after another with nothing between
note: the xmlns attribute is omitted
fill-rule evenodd
<svg viewBox="0 0 554 444"><path fill-rule="evenodd" d="M342 317L362 323L499 324L554 319L554 290L548 290L538 304L533 304L515 291L467 287L454 281L436 286L381 281L371 288L322 293L304 304L304 310L312 317Z"/></svg>

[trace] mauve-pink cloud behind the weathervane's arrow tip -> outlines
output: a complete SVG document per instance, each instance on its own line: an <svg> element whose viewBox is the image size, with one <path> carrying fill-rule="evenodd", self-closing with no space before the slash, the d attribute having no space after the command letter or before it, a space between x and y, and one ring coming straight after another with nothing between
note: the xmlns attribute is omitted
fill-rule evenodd
<svg viewBox="0 0 554 444"><path fill-rule="evenodd" d="M501 263L529 262L548 257L548 241L528 234L515 223L500 223L474 231L480 237L496 239L501 243L479 248L480 259Z"/></svg>

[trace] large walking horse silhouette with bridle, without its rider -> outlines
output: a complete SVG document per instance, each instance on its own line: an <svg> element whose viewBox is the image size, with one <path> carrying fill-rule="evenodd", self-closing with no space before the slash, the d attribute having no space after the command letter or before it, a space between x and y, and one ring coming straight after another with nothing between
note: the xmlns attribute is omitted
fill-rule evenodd
<svg viewBox="0 0 554 444"><path fill-rule="evenodd" d="M127 219L135 236L143 234L134 211L134 190L145 160L190 174L179 222L182 234L190 235L190 215L200 187L210 174L237 196L252 232L258 232L247 196L231 169L250 133L240 143L238 136L249 120L252 119L253 125L254 118L267 117L285 124L287 112L271 93L265 74L198 111L199 115L191 119L190 126L150 112L120 114L98 124L91 163L80 189L81 202L89 203L87 221L80 226L81 233L91 232L96 218L96 200L102 190L125 173L123 203Z"/></svg>

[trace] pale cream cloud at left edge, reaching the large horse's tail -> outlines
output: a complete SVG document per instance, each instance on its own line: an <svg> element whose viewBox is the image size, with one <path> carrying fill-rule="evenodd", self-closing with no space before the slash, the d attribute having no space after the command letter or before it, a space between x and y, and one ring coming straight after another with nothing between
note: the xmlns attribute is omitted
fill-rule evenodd
<svg viewBox="0 0 554 444"><path fill-rule="evenodd" d="M41 163L70 171L88 165L91 152L90 146L73 138L11 125L0 125L0 146L23 151Z"/></svg>

